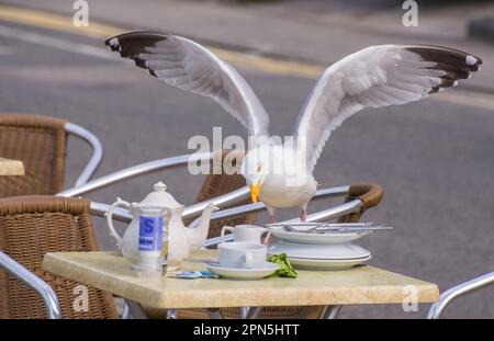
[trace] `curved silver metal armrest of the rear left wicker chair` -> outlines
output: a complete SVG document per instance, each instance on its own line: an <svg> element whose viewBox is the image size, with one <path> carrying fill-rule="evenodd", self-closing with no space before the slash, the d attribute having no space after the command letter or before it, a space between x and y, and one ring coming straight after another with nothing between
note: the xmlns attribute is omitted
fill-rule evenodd
<svg viewBox="0 0 494 341"><path fill-rule="evenodd" d="M79 137L92 147L92 156L79 178L76 180L75 185L80 186L91 179L92 174L94 174L96 170L100 166L101 160L103 159L103 146L94 134L77 124L66 123L65 130L70 135Z"/></svg>

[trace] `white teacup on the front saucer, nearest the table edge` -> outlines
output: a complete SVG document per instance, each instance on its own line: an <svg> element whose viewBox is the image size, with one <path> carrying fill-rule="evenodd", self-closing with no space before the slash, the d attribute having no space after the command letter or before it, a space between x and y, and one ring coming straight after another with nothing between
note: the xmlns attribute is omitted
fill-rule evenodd
<svg viewBox="0 0 494 341"><path fill-rule="evenodd" d="M220 266L257 269L266 264L268 248L258 242L232 241L217 246Z"/></svg>

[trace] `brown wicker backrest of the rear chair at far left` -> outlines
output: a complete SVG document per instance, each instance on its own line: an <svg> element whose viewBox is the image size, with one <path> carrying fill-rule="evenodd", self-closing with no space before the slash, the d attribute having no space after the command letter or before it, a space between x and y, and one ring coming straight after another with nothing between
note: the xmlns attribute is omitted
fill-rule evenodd
<svg viewBox="0 0 494 341"><path fill-rule="evenodd" d="M66 121L0 114L0 156L22 160L24 177L0 177L0 197L55 194L63 190L67 149Z"/></svg>

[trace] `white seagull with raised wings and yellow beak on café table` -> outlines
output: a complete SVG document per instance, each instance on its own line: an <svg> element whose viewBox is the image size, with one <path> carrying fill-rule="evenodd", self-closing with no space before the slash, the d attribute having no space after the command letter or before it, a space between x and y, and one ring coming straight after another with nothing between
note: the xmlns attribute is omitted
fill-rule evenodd
<svg viewBox="0 0 494 341"><path fill-rule="evenodd" d="M324 70L296 121L293 140L273 141L269 116L240 73L204 46L182 36L131 32L105 42L114 52L165 83L209 96L237 118L255 143L242 162L254 203L276 211L307 204L317 182L313 170L329 135L367 107L405 104L427 98L480 70L482 60L462 50L430 45L370 46Z"/></svg>

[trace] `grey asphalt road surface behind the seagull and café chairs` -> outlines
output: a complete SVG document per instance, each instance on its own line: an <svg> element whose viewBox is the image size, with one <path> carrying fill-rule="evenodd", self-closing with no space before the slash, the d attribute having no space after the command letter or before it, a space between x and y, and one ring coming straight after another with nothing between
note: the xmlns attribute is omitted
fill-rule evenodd
<svg viewBox="0 0 494 341"><path fill-rule="evenodd" d="M0 22L74 44L102 42ZM1 29L1 27L0 27ZM0 30L1 32L1 30ZM272 134L290 135L313 79L240 70L271 113ZM98 175L138 162L190 152L192 135L246 136L245 129L209 99L160 83L131 64L32 44L0 34L0 111L67 118L94 132L105 157ZM375 181L382 204L366 220L395 226L361 240L370 264L438 283L441 291L492 270L494 263L494 112L426 100L406 106L367 110L333 134L316 167L323 186ZM89 156L70 141L67 186ZM119 195L139 201L162 180L190 204L201 177L173 170L131 180L90 195L111 203ZM318 211L334 202L317 202ZM285 211L281 217L297 215ZM260 215L259 221L267 219ZM103 220L96 221L104 248L112 248ZM494 289L459 299L447 317L493 317ZM345 307L340 317L422 318L401 306Z"/></svg>

